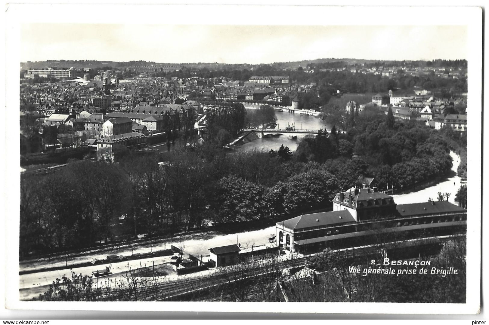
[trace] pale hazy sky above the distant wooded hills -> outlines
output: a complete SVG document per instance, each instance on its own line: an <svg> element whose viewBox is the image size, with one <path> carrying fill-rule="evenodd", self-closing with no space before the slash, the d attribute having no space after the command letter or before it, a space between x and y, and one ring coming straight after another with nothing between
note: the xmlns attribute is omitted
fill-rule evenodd
<svg viewBox="0 0 489 325"><path fill-rule="evenodd" d="M466 59L465 26L22 24L21 62Z"/></svg>

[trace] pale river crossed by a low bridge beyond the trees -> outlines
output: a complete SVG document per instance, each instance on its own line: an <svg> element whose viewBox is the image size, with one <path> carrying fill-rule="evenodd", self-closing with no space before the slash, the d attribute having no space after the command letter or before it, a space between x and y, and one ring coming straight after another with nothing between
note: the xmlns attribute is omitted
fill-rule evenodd
<svg viewBox="0 0 489 325"><path fill-rule="evenodd" d="M281 111L276 111L275 115L277 116L277 129L285 129L285 127L295 125L296 129L319 130L322 128L323 130L331 130L330 126L327 126L323 120L317 117ZM297 139L289 139L290 134L297 135ZM284 145L285 147L289 147L290 151L295 151L299 140L307 135L307 133L284 133L278 137L267 136L245 143L242 146L237 146L235 150L250 151L257 149L270 151L270 149L278 150L281 145Z"/></svg>

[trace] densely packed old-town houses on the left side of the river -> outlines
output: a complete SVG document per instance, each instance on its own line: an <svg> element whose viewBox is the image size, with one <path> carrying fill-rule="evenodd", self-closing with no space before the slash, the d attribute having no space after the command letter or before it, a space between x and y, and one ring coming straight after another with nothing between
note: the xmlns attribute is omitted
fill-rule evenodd
<svg viewBox="0 0 489 325"><path fill-rule="evenodd" d="M149 69L149 70L148 70ZM146 70L152 71L153 67ZM144 70L144 71L143 71ZM141 73L147 72L145 69ZM111 78L112 77L112 78ZM57 127L59 141L50 147L97 147L107 156L111 143L143 146L141 137L164 132L164 116L193 110L197 129L205 128L201 101L269 102L291 106L297 93L313 91L315 85L292 85L289 77L251 77L246 81L228 78L134 78L119 80L118 71L99 71L92 80L84 78L58 83L21 84L21 120ZM22 122L22 121L21 121ZM22 128L21 128L22 129ZM63 130L62 130L63 129ZM42 151L46 146L26 145L32 137L21 130L24 152ZM122 136L120 136L122 134ZM109 141L119 136L124 141ZM29 139L28 139L29 138Z"/></svg>

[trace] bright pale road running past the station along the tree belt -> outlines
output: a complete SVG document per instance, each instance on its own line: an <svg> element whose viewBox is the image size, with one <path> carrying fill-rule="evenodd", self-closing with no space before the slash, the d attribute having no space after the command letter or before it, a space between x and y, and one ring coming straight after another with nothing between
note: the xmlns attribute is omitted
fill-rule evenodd
<svg viewBox="0 0 489 325"><path fill-rule="evenodd" d="M393 195L394 200L397 204L406 204L406 203L417 203L417 202L425 202L429 197L437 199L438 192L448 192L450 193L449 201L451 203L455 203L455 194L461 185L461 179L456 175L457 167L460 163L460 158L454 153L450 152L450 156L453 159L453 167L452 175L450 175L447 179L442 180L436 184L429 185L422 189L415 189L412 192L404 193L400 195ZM268 238L271 234L275 233L275 226L270 226L260 230L235 233L235 234L219 234L219 233L207 233L207 234L194 234L190 236L182 236L177 238L172 238L168 242L165 243L157 243L151 247L151 244L145 244L141 246L131 247L121 247L115 249L111 254L129 256L131 254L136 253L149 253L152 251L163 250L165 248L169 248L170 245L175 245L180 247L181 242L184 245L184 254L192 254L192 255L208 255L209 249L211 247L225 246L230 244L235 244L236 242L241 243L243 248L251 247L251 245L263 245L268 243ZM103 253L93 253L87 256L80 256L69 258L68 262L73 263L82 263L86 261L90 261L93 258L97 259L105 259L108 254L107 252ZM170 261L170 256L166 257L158 257L158 258L146 258L143 260L131 260L124 261L112 264L111 272L113 273L109 277L105 277L106 279L112 278L120 278L121 272L126 272L128 270L128 263L131 268L137 268L139 265L150 266L153 265L153 261L155 265L159 265L162 263L168 263ZM63 266L65 265L66 260L57 259L57 260L39 260L36 262L29 263L21 263L21 270L28 270L39 267L49 267L49 266ZM76 273L81 273L85 275L91 275L91 272L97 269L103 269L106 265L97 265L97 266L87 266L73 269ZM23 274L20 276L20 288L35 288L39 286L49 285L57 278L61 278L63 275L69 275L69 270L58 270L58 271L45 271L45 272L37 272L31 274ZM34 292L35 290L33 290ZM37 295L36 295L37 296ZM26 295L25 297L28 297ZM24 297L24 298L25 298Z"/></svg>

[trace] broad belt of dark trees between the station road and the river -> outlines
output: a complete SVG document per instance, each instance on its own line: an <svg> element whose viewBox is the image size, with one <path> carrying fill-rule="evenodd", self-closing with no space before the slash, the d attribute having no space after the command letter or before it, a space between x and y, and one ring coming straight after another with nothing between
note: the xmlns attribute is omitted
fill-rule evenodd
<svg viewBox="0 0 489 325"><path fill-rule="evenodd" d="M272 114L264 116L273 121ZM191 116L165 118L169 134L191 137L185 122ZM210 114L203 144L160 157L126 152L118 164L78 161L60 172L22 176L21 254L324 209L358 176L375 177L384 190L443 175L452 166L449 151L463 153L467 146L467 136L453 130L364 110L345 123L346 130L334 126L302 138L295 152L284 145L270 152L226 152L222 146L245 119L242 104L223 106ZM466 204L466 188L457 200Z"/></svg>

